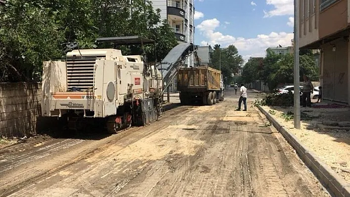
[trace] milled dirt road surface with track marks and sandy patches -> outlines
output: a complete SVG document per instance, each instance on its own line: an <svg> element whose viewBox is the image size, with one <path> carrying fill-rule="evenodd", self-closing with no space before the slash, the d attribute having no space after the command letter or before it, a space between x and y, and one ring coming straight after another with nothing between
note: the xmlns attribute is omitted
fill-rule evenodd
<svg viewBox="0 0 350 197"><path fill-rule="evenodd" d="M256 94L248 96L253 101ZM258 110L248 102L248 112L236 112L237 101L227 90L224 102L178 105L120 134L0 150L0 196L329 196Z"/></svg>

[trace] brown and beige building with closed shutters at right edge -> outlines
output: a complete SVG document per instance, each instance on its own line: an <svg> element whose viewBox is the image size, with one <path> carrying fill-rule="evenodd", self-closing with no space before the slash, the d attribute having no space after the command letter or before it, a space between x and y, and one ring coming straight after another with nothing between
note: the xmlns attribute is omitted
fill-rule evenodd
<svg viewBox="0 0 350 197"><path fill-rule="evenodd" d="M300 0L300 49L320 51L325 100L350 105L350 0Z"/></svg>

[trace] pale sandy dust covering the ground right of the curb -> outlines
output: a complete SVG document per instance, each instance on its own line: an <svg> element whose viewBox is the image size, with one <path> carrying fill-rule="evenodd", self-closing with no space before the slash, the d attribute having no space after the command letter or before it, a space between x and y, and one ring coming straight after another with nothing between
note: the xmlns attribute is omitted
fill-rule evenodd
<svg viewBox="0 0 350 197"><path fill-rule="evenodd" d="M321 158L350 184L350 131L322 129L318 125L325 120L348 120L349 109L302 108L301 130L294 129L293 108L263 106L269 114L296 135L307 148Z"/></svg>

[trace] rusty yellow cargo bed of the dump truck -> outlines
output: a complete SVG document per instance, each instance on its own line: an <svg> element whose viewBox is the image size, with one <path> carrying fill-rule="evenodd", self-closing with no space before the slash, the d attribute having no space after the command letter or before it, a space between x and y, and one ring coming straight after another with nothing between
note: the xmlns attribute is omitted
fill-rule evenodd
<svg viewBox="0 0 350 197"><path fill-rule="evenodd" d="M181 68L177 75L177 90L220 90L221 71L210 67Z"/></svg>

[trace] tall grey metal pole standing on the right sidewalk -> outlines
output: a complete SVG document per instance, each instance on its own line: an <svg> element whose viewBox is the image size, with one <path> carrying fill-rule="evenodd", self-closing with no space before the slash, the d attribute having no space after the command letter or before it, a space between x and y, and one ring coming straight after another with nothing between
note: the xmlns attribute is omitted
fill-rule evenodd
<svg viewBox="0 0 350 197"><path fill-rule="evenodd" d="M294 0L294 128L300 129L299 0ZM298 93L297 93L298 92Z"/></svg>

